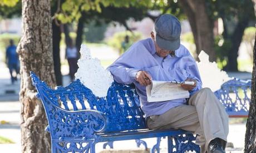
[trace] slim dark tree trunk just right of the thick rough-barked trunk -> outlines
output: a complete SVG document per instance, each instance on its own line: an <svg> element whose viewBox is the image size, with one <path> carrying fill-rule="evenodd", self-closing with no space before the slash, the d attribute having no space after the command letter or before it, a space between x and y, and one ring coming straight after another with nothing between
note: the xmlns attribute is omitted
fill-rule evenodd
<svg viewBox="0 0 256 153"><path fill-rule="evenodd" d="M60 42L61 42L61 29L55 22L52 21L52 46L53 46L53 65L57 85L62 85L61 74L61 58L60 58Z"/></svg>

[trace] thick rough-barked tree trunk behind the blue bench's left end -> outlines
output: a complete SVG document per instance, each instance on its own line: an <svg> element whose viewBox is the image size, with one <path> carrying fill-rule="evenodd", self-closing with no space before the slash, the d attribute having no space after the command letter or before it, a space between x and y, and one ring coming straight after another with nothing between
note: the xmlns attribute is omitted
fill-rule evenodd
<svg viewBox="0 0 256 153"><path fill-rule="evenodd" d="M48 85L55 86L50 7L50 0L22 0L23 35L17 48L21 60L22 152L51 152L45 110L29 77L33 71Z"/></svg>

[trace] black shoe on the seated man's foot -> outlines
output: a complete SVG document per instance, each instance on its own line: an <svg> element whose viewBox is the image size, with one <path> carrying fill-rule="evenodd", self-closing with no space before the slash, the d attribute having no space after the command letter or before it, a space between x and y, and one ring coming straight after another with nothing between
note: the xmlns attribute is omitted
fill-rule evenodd
<svg viewBox="0 0 256 153"><path fill-rule="evenodd" d="M208 153L225 153L223 146L225 145L225 141L219 139L218 137L211 140L210 144L208 145Z"/></svg>

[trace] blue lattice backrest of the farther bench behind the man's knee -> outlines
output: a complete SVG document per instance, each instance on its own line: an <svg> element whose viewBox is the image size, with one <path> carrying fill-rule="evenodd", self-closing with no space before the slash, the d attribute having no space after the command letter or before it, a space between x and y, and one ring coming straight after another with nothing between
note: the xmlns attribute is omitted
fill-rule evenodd
<svg viewBox="0 0 256 153"><path fill-rule="evenodd" d="M238 118L248 116L251 91L252 80L234 78L221 85L214 94L225 106L229 117Z"/></svg>

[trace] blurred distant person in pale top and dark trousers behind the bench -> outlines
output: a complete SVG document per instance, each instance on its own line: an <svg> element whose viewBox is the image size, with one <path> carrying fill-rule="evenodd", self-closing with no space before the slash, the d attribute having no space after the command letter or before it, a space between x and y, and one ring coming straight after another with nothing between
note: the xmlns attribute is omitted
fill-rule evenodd
<svg viewBox="0 0 256 153"><path fill-rule="evenodd" d="M67 48L66 48L66 55L65 55L68 66L70 69L70 79L71 81L75 79L75 73L77 72L78 66L77 66L77 60L78 60L78 52L75 45L73 45L72 39L68 40Z"/></svg>

